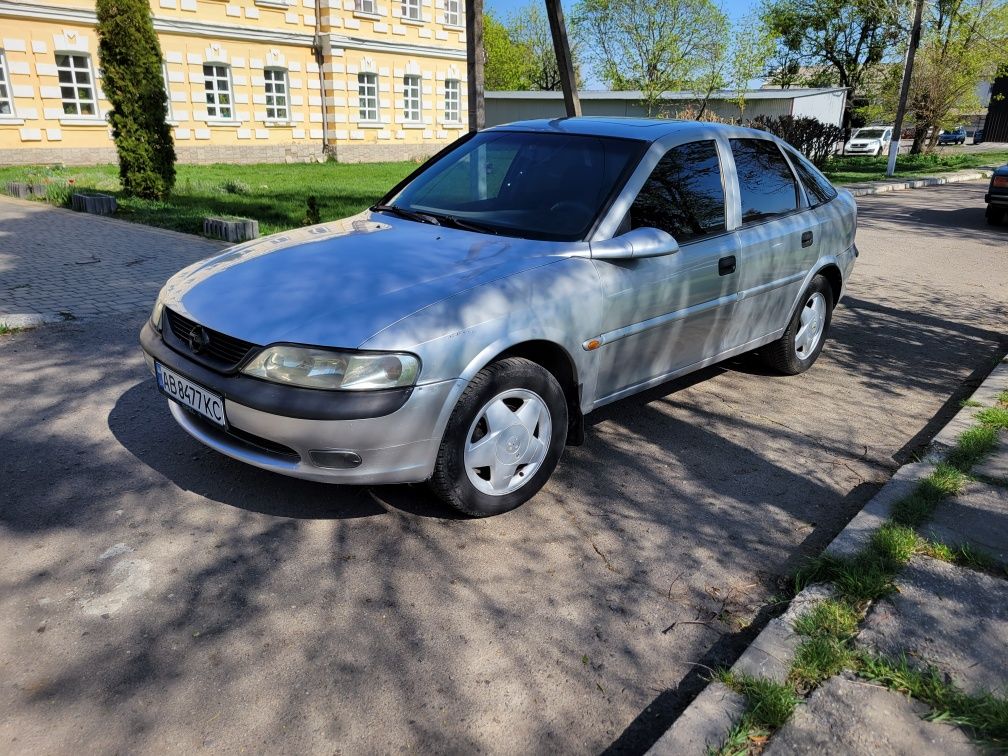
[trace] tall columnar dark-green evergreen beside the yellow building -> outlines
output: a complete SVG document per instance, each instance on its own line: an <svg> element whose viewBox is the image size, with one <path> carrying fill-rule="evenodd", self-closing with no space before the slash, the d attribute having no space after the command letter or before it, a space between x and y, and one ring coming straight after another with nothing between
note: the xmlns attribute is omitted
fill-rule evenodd
<svg viewBox="0 0 1008 756"><path fill-rule="evenodd" d="M119 175L130 195L161 199L175 180L175 149L165 123L161 48L147 0L97 0L102 87Z"/></svg>

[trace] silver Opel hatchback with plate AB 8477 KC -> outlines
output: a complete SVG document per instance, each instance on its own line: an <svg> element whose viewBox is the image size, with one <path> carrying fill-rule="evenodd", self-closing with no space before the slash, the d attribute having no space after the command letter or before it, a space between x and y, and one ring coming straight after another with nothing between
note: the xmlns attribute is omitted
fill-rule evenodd
<svg viewBox="0 0 1008 756"><path fill-rule="evenodd" d="M428 481L476 516L593 409L743 352L815 361L857 210L760 131L625 119L470 134L355 218L174 275L140 336L175 420L266 470Z"/></svg>

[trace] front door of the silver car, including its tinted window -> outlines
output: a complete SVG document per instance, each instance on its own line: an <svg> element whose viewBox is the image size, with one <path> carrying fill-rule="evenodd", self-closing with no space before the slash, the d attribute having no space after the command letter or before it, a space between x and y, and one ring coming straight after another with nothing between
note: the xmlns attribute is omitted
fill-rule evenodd
<svg viewBox="0 0 1008 756"><path fill-rule="evenodd" d="M617 233L657 228L677 252L595 260L605 295L596 396L612 400L658 383L723 350L738 290L738 241L727 231L715 139L668 149Z"/></svg>

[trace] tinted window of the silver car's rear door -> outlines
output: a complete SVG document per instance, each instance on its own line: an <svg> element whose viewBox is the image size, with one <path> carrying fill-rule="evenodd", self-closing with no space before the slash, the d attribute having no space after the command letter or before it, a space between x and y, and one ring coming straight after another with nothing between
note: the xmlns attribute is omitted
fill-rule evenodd
<svg viewBox="0 0 1008 756"><path fill-rule="evenodd" d="M798 209L798 182L775 142L732 139L742 198L742 225L759 223Z"/></svg>

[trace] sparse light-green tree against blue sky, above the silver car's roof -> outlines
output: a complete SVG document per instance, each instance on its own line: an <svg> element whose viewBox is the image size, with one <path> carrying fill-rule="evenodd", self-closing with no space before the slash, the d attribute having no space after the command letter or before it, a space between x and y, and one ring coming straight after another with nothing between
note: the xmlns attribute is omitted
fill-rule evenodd
<svg viewBox="0 0 1008 756"><path fill-rule="evenodd" d="M640 90L649 113L663 92L723 86L729 23L713 0L581 0L575 17L599 77Z"/></svg>

